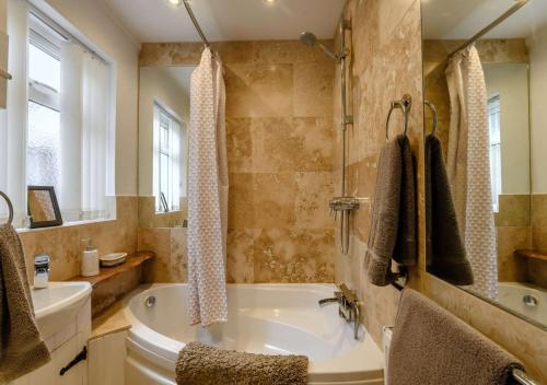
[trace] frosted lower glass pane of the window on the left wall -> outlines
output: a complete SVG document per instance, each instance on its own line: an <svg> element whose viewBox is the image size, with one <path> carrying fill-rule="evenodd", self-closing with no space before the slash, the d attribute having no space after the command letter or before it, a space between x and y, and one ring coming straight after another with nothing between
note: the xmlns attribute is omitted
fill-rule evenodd
<svg viewBox="0 0 547 385"><path fill-rule="evenodd" d="M26 180L59 187L59 112L28 102Z"/></svg>

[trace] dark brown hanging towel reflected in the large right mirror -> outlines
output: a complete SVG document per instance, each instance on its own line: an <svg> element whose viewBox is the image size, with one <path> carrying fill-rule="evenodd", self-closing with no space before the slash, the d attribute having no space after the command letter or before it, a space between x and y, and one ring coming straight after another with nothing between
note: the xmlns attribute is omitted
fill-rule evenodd
<svg viewBox="0 0 547 385"><path fill-rule="evenodd" d="M426 137L426 226L428 271L453 284L473 284L442 145L433 135Z"/></svg>

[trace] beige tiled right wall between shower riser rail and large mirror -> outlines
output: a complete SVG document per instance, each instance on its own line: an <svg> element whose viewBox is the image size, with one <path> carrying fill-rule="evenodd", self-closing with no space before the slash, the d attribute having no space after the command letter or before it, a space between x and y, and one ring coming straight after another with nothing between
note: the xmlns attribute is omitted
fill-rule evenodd
<svg viewBox="0 0 547 385"><path fill-rule="evenodd" d="M385 144L385 119L389 102L399 100L405 93L410 94L414 100L408 138L414 153L416 155L420 153L422 138L420 2L353 0L348 2L345 18L351 20L353 25L352 90L349 100L353 106L354 124L348 128L348 192L359 198L372 199L377 158ZM336 82L335 95L338 95L338 88L339 83ZM335 119L338 119L339 110L339 97L336 97ZM400 113L396 112L392 118L391 132L396 135L400 131ZM337 150L340 149L340 140L338 135ZM337 161L340 159L339 151L335 159ZM419 170L422 167L421 160L419 167ZM335 170L338 171L339 166ZM421 200L422 191L420 191L420 202ZM374 287L366 280L363 259L370 220L371 203L363 202L352 214L349 254L337 255L336 281L349 283L358 291L363 304L363 323L380 345L382 327L394 323L399 292L393 287ZM423 225L420 226L420 234L423 235L421 228ZM416 280L412 283L415 282Z"/></svg>

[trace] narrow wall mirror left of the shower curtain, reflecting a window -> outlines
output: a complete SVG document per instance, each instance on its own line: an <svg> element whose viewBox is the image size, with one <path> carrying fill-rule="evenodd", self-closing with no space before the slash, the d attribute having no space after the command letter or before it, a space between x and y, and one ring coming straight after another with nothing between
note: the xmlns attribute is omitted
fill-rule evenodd
<svg viewBox="0 0 547 385"><path fill-rule="evenodd" d="M139 82L139 222L185 225L187 126L195 67L141 67Z"/></svg>

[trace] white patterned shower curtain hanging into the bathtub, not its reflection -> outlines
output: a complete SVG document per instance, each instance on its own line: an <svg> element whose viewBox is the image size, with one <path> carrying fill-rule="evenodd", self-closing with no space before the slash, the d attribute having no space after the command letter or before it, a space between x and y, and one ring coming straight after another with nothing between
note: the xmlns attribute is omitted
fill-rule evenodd
<svg viewBox="0 0 547 385"><path fill-rule="evenodd" d="M190 82L188 310L193 325L228 319L224 105L222 62L206 48Z"/></svg>

